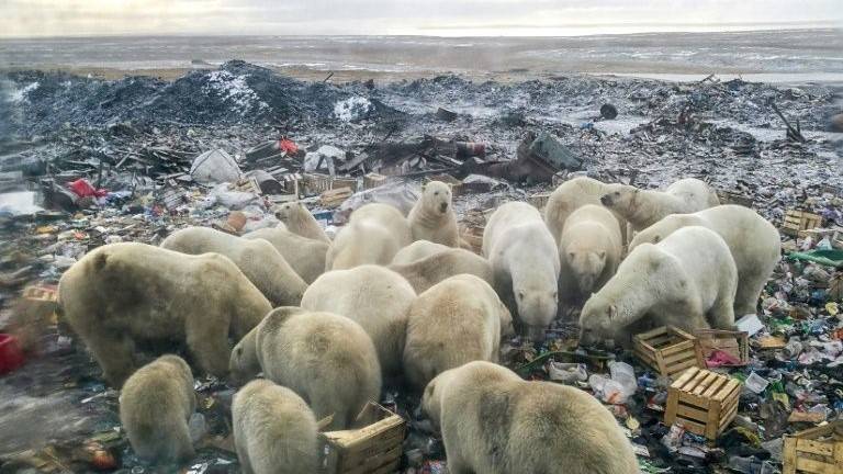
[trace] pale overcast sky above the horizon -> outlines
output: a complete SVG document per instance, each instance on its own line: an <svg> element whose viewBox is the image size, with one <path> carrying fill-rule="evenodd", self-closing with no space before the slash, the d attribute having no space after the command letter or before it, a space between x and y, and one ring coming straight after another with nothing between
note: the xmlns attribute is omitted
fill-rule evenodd
<svg viewBox="0 0 843 474"><path fill-rule="evenodd" d="M0 0L0 36L575 35L843 27L843 0Z"/></svg>

